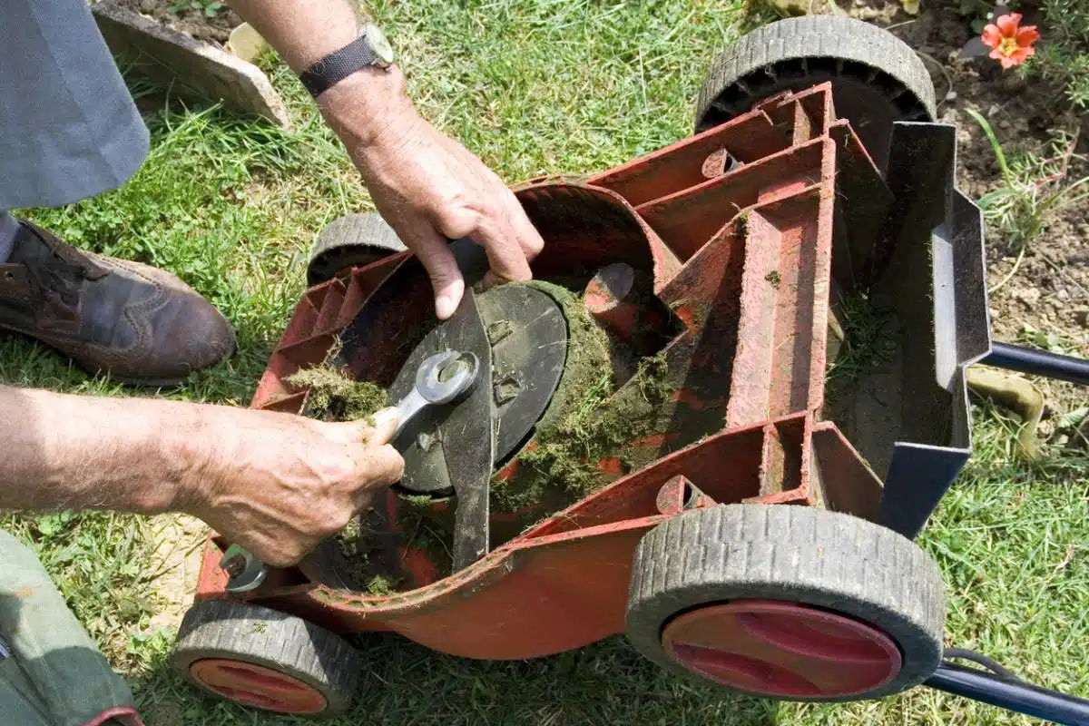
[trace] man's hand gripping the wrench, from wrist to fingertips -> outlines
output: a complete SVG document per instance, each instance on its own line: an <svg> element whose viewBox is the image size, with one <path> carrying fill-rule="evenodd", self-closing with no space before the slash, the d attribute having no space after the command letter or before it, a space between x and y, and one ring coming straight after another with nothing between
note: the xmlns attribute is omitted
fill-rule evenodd
<svg viewBox="0 0 1089 726"><path fill-rule="evenodd" d="M404 471L388 443L395 409L375 414L374 427L229 410L189 514L274 567L296 564Z"/></svg>

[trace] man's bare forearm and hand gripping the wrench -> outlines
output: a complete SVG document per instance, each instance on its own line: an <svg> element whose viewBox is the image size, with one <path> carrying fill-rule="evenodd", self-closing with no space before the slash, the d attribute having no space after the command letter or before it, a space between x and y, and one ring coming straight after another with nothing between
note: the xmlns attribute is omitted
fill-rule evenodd
<svg viewBox="0 0 1089 726"><path fill-rule="evenodd" d="M372 423L0 385L0 509L185 512L292 565L401 479L396 411Z"/></svg>

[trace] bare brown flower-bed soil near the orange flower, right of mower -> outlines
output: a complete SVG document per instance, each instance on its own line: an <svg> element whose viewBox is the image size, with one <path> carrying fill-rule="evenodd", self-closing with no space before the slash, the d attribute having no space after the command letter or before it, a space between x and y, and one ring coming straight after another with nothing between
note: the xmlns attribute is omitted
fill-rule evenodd
<svg viewBox="0 0 1089 726"><path fill-rule="evenodd" d="M1021 152L1053 158L1056 132L1075 138L1066 180L1089 176L1089 114L1074 112L1061 89L1017 71L1003 71L987 57L962 60L957 54L976 34L957 3L927 2L917 16L903 12L898 0L854 0L841 7L851 15L888 27L915 48L933 79L938 121L957 127L957 185L971 199L1003 186L990 143L968 109L990 122L1007 159ZM1025 3L1023 3L1025 4ZM1036 22L1025 9L1025 23ZM1084 189L1085 187L1082 187ZM995 341L1032 344L1025 327L1053 336L1069 355L1089 356L1089 201L1070 205L1044 218L1030 239L1014 275L990 294ZM993 288L1013 270L1019 244L994 224L988 225L987 261ZM1050 413L1085 405L1084 390L1036 379ZM1047 416L1047 414L1045 414ZM1049 423L1041 426L1044 434Z"/></svg>

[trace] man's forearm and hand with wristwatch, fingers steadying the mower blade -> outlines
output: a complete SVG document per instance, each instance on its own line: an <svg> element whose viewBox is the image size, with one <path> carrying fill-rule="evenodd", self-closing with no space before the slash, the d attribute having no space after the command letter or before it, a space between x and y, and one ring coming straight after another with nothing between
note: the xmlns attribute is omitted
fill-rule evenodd
<svg viewBox="0 0 1089 726"><path fill-rule="evenodd" d="M348 0L228 0L295 73L355 39ZM363 173L378 211L419 257L445 320L465 290L446 249L469 237L488 251L486 283L529 280L544 243L510 189L461 144L419 116L396 66L367 67L318 98L326 121Z"/></svg>

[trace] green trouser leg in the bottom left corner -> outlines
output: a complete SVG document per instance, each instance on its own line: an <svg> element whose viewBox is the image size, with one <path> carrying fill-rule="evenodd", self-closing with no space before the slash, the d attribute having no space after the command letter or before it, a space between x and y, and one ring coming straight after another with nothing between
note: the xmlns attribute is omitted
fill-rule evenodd
<svg viewBox="0 0 1089 726"><path fill-rule="evenodd" d="M139 723L125 681L65 606L41 563L2 529L0 637L11 653L0 660L0 725Z"/></svg>

